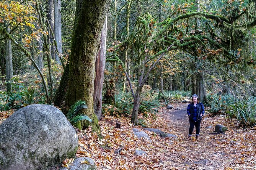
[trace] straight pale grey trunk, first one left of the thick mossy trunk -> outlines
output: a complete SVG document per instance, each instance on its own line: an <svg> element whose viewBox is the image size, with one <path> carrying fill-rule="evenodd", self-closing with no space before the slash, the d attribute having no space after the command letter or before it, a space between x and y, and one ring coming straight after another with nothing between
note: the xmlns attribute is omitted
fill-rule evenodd
<svg viewBox="0 0 256 170"><path fill-rule="evenodd" d="M57 42L57 50L59 52L55 53L55 61L60 65L59 55L62 55L62 38L61 38L61 9L60 0L54 0L54 38Z"/></svg>

